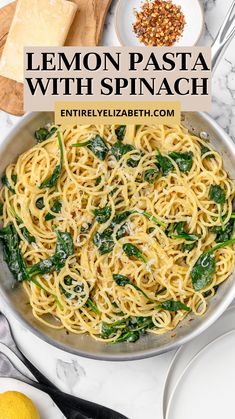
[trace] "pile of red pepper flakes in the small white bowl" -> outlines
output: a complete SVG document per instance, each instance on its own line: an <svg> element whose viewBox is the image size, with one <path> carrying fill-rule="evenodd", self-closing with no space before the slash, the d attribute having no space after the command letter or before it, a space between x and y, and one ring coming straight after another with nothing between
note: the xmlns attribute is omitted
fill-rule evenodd
<svg viewBox="0 0 235 419"><path fill-rule="evenodd" d="M135 16L133 30L147 46L171 47L182 36L186 23L181 7L171 0L147 0Z"/></svg>

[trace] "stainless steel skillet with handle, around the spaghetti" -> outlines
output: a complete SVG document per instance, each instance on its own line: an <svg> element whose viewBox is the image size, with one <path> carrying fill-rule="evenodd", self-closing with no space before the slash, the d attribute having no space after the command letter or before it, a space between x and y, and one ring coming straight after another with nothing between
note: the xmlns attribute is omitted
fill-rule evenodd
<svg viewBox="0 0 235 419"><path fill-rule="evenodd" d="M233 1L212 48L212 62L216 67L226 46L235 34L235 2ZM232 179L235 179L235 144L218 124L205 113L186 112L183 123L193 132L206 132L213 145L223 156L224 166ZM14 161L19 154L33 144L33 133L39 127L53 121L53 113L31 113L21 119L0 145L0 173ZM172 350L195 338L209 327L228 307L235 297L235 272L219 288L210 302L207 313L202 318L188 316L174 331L161 336L145 335L136 343L104 345L89 336L66 334L64 330L53 330L36 321L32 316L28 299L22 287L13 287L13 280L0 251L0 307L7 314L13 314L18 321L35 335L48 343L80 356L88 358L123 361L147 358ZM193 318L193 321L189 321Z"/></svg>

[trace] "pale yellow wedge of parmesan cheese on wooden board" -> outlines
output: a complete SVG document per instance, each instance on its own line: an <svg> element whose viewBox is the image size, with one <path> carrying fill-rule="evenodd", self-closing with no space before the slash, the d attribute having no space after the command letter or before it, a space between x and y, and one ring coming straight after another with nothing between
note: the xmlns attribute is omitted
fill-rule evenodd
<svg viewBox="0 0 235 419"><path fill-rule="evenodd" d="M23 83L24 47L64 45L77 5L66 0L18 0L0 61L0 75Z"/></svg>

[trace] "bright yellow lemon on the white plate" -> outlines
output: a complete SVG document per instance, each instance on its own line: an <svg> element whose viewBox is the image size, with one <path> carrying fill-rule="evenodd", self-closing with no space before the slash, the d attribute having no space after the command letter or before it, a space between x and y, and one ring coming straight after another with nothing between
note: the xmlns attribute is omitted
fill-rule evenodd
<svg viewBox="0 0 235 419"><path fill-rule="evenodd" d="M0 394L1 419L40 419L33 402L18 391Z"/></svg>

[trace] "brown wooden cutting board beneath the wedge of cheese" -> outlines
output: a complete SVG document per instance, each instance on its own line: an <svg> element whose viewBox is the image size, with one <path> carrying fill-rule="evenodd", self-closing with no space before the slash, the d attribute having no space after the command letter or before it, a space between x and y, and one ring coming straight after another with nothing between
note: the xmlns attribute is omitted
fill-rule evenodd
<svg viewBox="0 0 235 419"><path fill-rule="evenodd" d="M112 0L73 0L78 11L65 45L96 46L103 34L104 22ZM0 55L15 13L16 2L0 9ZM21 116L23 110L23 84L0 76L0 109Z"/></svg>

